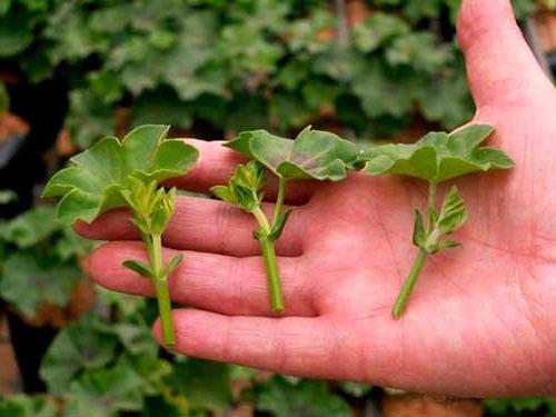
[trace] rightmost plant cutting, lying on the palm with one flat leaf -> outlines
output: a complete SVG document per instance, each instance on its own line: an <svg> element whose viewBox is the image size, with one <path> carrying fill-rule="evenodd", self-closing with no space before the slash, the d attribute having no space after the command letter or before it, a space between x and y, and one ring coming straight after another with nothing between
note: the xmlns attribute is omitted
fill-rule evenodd
<svg viewBox="0 0 556 417"><path fill-rule="evenodd" d="M440 212L436 210L438 183L477 171L509 169L514 161L502 150L480 147L494 131L492 126L471 125L453 132L430 132L413 145L381 145L364 152L370 175L396 173L428 182L425 217L415 210L413 242L418 248L415 264L401 287L391 315L399 319L408 298L430 255L460 246L457 240L443 239L467 220L464 200L453 186L445 197Z"/></svg>

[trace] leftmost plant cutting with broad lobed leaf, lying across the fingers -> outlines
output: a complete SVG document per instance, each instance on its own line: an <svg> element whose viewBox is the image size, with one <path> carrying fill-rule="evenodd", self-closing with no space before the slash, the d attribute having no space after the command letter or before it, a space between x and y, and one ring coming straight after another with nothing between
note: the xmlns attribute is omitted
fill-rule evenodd
<svg viewBox="0 0 556 417"><path fill-rule="evenodd" d="M131 210L131 221L141 235L149 262L127 260L123 266L153 284L163 341L173 346L168 276L181 261L181 255L165 265L161 236L173 214L176 189L166 190L159 185L185 175L196 162L198 151L181 140L166 139L168 130L169 126L146 125L121 142L115 137L98 141L50 179L43 197L62 197L57 214L68 225L91 222L118 207Z"/></svg>

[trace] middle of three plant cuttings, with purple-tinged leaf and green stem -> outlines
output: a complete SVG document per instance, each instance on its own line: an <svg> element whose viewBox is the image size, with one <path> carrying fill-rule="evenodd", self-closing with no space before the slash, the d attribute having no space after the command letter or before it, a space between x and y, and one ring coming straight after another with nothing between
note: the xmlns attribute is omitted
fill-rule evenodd
<svg viewBox="0 0 556 417"><path fill-rule="evenodd" d="M339 181L346 178L348 170L363 168L359 150L334 133L310 127L305 128L295 140L266 130L246 131L225 147L245 155L250 161L238 165L227 186L212 187L211 191L219 199L250 212L257 220L259 229L254 237L260 241L270 304L274 311L282 312L285 304L275 242L291 214L291 209L284 208L287 183L300 179ZM268 173L278 179L278 193L270 219L261 209L262 187Z"/></svg>

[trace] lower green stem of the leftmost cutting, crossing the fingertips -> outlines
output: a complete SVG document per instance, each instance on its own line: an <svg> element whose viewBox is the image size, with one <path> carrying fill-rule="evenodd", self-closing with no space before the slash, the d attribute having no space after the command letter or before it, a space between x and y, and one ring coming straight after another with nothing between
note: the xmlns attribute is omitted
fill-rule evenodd
<svg viewBox="0 0 556 417"><path fill-rule="evenodd" d="M158 310L160 314L160 322L162 326L162 339L166 346L176 345L176 335L173 330L173 321L171 317L171 301L170 291L168 290L168 279L165 274L162 262L162 239L160 235L149 235L145 239L147 252L149 254L149 261L155 278L155 289L157 292Z"/></svg>

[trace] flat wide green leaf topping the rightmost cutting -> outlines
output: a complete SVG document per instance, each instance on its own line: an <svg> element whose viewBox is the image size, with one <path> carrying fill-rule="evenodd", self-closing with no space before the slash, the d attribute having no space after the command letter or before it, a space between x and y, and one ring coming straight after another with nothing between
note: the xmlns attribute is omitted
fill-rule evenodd
<svg viewBox="0 0 556 417"><path fill-rule="evenodd" d="M364 152L371 175L397 173L441 182L476 171L509 169L514 161L502 150L479 147L494 128L471 125L451 135L431 132L413 145L380 145Z"/></svg>

